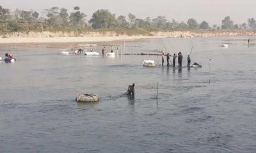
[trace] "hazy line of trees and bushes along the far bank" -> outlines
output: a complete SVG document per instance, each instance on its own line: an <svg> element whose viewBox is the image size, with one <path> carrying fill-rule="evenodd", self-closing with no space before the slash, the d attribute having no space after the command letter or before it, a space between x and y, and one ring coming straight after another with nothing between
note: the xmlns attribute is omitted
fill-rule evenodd
<svg viewBox="0 0 256 153"><path fill-rule="evenodd" d="M40 15L33 10L10 11L0 6L0 31L15 32L29 30L51 30L51 29L143 29L146 31L172 31L172 30L216 30L216 29L256 29L254 18L248 18L247 24L234 24L231 18L225 17L221 25L209 25L203 21L198 23L194 18L187 22L168 20L164 16L156 18L137 18L129 13L127 16L115 14L109 10L97 10L90 20L86 20L86 14L80 11L79 6L74 7L71 13L66 8L52 7L42 11ZM26 24L21 24L26 23Z"/></svg>

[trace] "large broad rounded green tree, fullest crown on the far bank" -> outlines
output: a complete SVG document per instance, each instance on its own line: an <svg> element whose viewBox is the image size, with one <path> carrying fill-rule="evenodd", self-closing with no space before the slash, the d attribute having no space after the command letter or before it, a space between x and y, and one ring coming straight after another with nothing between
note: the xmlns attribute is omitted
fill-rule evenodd
<svg viewBox="0 0 256 153"><path fill-rule="evenodd" d="M93 13L89 23L94 29L114 27L116 23L115 14L108 10L97 10Z"/></svg>

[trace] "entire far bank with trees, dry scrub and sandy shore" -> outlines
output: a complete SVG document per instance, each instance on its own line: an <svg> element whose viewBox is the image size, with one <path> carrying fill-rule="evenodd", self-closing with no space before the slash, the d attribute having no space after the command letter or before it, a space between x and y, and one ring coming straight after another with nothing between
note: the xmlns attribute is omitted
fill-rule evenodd
<svg viewBox="0 0 256 153"><path fill-rule="evenodd" d="M221 25L195 18L188 21L170 20L165 16L138 18L97 10L87 17L79 6L68 11L53 6L42 12L15 11L0 5L0 43L75 43L136 40L141 38L193 38L207 36L255 36L256 20L236 24L230 16Z"/></svg>

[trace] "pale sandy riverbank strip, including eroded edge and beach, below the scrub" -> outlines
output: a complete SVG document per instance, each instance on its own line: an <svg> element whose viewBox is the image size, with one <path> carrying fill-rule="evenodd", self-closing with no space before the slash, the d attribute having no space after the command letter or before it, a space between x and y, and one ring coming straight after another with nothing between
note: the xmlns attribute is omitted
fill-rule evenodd
<svg viewBox="0 0 256 153"><path fill-rule="evenodd" d="M207 36L255 36L255 31L170 31L145 35L127 35L115 32L28 32L0 35L0 43L82 43L104 41L131 41L145 38L193 38Z"/></svg>

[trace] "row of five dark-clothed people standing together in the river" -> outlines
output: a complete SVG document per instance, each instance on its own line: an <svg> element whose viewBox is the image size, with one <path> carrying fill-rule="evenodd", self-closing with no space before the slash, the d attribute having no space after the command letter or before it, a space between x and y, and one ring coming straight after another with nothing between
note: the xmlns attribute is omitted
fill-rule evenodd
<svg viewBox="0 0 256 153"><path fill-rule="evenodd" d="M166 60L167 60L167 66L170 66L170 54L167 53L166 55ZM177 55L176 54L173 54L173 61L172 61L172 66L175 67L175 64L176 64L176 58L177 58ZM180 67L182 67L182 60L183 60L183 55L181 52L178 53L178 64ZM190 67L190 62L191 62L191 58L190 58L190 55L188 55L188 67ZM164 66L164 52L162 52L162 66Z"/></svg>

